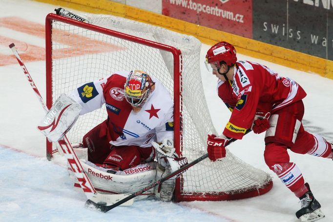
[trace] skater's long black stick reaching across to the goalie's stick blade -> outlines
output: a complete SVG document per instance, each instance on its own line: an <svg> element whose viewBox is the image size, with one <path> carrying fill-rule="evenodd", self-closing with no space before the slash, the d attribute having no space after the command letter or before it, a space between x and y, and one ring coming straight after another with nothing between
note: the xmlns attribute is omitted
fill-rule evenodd
<svg viewBox="0 0 333 222"><path fill-rule="evenodd" d="M248 129L248 130L245 132L245 134L248 134L248 133L250 133L250 132L251 132L251 130ZM230 143L232 143L232 142L234 142L234 141L236 141L236 140L237 140L237 139L231 139L231 140L229 141L229 143L228 143L226 146L228 146ZM174 176L176 176L176 175L178 175L178 174L184 172L184 171L187 170L189 167L191 167L191 166L197 164L197 163L200 162L200 161L205 160L207 157L208 157L208 154L205 154L205 155L199 157L198 159L196 159L196 160L194 160L194 161L188 163L187 165L185 165L185 166L179 168L178 170L176 170L176 171L170 173L168 176L166 176L166 177L164 177L164 178L161 178L160 180L158 180L158 181L156 181L156 182L150 184L149 186L146 186L146 187L143 188L142 190L139 190L139 191L137 191L137 192L131 194L130 196L124 198L123 200L120 200L119 202L116 202L116 203L114 203L114 204L112 204L112 205L110 205L110 206L107 206L107 205L105 205L105 204L103 204L103 203L102 203L102 204L101 204L101 203L96 203L96 202L93 202L93 201L91 201L91 200L87 200L87 201L85 202L85 205L86 205L86 206L93 205L93 206L95 206L97 209L100 209L102 212L107 212L107 211L109 211L109 210L111 210L111 209L113 209L113 208L115 208L115 207L117 207L117 206L119 206L119 205L125 203L126 201L130 201L131 199L135 198L136 196L138 196L138 195L140 195L140 194L146 192L146 191L149 190L150 188L155 187L155 186L159 185L159 184L162 183L162 182L165 182L165 181L168 180L169 178L174 177Z"/></svg>

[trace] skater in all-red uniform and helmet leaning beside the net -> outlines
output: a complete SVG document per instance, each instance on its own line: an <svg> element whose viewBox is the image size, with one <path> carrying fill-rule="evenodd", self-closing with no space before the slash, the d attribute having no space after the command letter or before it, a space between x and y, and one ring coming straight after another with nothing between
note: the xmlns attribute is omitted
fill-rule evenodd
<svg viewBox="0 0 333 222"><path fill-rule="evenodd" d="M270 169L301 200L296 217L310 222L324 217L308 183L288 151L316 157L333 157L332 144L307 132L303 125L306 96L295 81L280 77L265 65L237 61L236 50L221 41L207 52L206 65L219 80L218 96L230 109L231 117L220 136L208 135L208 157L216 161L226 156L230 138L242 139L247 129L266 131L264 158Z"/></svg>

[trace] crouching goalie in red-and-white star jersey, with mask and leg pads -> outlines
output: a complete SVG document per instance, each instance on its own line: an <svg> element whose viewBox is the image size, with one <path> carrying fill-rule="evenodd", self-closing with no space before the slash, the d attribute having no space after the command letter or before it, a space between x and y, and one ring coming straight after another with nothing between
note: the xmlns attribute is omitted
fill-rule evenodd
<svg viewBox="0 0 333 222"><path fill-rule="evenodd" d="M173 148L171 96L161 82L144 71L113 73L58 100L49 112L59 113L60 122L66 124L59 124L52 132L41 130L50 141L60 140L79 115L105 104L107 119L83 137L88 156L83 168L93 185L103 191L133 193L187 163ZM151 194L170 201L174 185L174 178L167 180ZM146 192L143 197L148 196Z"/></svg>

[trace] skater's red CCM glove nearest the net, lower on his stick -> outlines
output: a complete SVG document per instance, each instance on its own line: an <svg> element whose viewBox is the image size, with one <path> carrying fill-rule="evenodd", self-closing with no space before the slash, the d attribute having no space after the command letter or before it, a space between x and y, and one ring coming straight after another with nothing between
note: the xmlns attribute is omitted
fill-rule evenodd
<svg viewBox="0 0 333 222"><path fill-rule="evenodd" d="M207 152L208 158L211 161L216 161L218 159L226 157L226 145L228 144L230 139L228 139L225 135L221 135L216 137L214 134L209 135L207 139Z"/></svg>

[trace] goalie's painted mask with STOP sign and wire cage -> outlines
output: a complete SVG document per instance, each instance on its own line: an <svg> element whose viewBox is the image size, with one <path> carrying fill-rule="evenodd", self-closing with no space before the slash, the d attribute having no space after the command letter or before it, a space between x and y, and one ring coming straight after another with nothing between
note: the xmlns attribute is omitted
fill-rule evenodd
<svg viewBox="0 0 333 222"><path fill-rule="evenodd" d="M134 107L142 107L148 99L155 84L144 71L134 70L129 73L125 82L125 99Z"/></svg>

